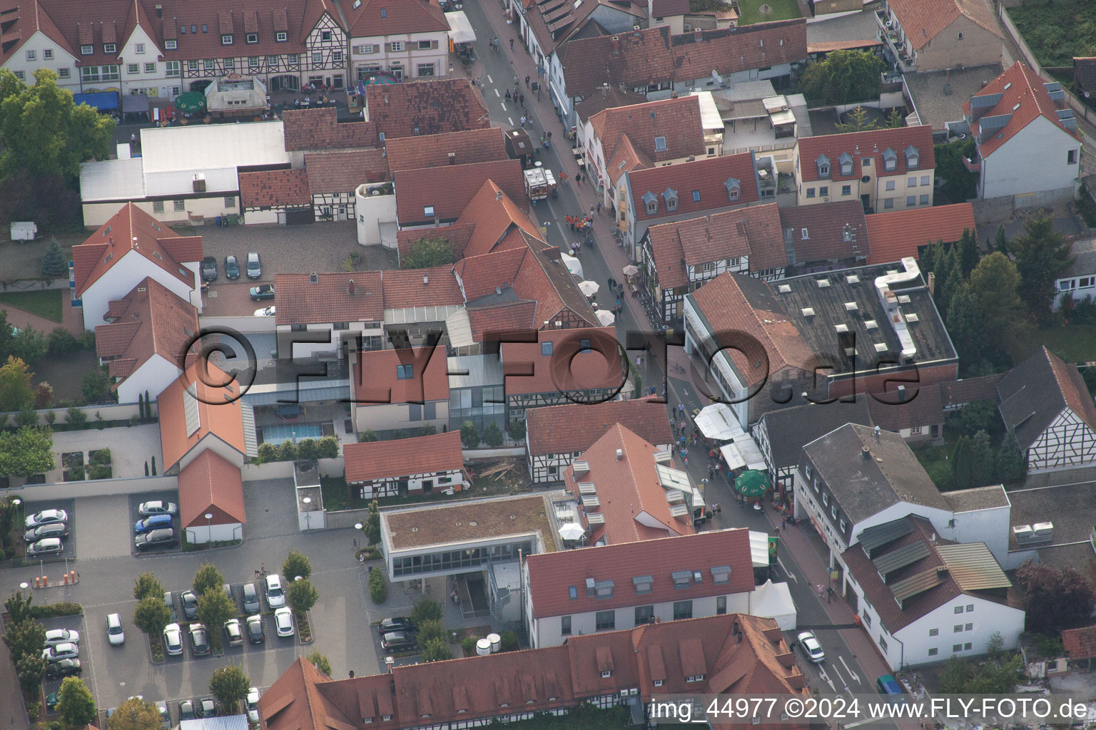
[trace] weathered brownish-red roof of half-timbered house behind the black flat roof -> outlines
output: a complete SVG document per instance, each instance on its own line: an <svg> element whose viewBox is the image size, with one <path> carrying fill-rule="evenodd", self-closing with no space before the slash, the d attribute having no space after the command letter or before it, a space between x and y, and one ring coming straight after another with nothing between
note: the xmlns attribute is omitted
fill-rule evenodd
<svg viewBox="0 0 1096 730"><path fill-rule="evenodd" d="M689 197L687 190L678 195ZM749 256L751 271L788 265L780 212L775 202L652 225L648 232L659 286L663 289L687 287L686 267L728 258Z"/></svg>

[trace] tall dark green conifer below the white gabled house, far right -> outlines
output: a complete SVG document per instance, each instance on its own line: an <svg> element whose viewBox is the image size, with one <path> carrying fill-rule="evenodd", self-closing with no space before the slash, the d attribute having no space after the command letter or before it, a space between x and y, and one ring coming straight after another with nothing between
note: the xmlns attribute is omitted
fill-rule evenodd
<svg viewBox="0 0 1096 730"><path fill-rule="evenodd" d="M1029 217L1024 232L1013 239L1013 256L1020 275L1017 293L1036 320L1050 322L1054 280L1070 267L1070 242L1054 230L1050 216Z"/></svg>

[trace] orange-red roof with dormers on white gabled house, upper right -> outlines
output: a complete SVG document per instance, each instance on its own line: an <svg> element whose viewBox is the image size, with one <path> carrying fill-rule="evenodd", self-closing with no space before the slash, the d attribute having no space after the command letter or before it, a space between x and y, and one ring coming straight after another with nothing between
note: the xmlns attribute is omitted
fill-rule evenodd
<svg viewBox="0 0 1096 730"><path fill-rule="evenodd" d="M979 0L971 0L975 2ZM1013 138L1020 129L1038 119L1040 116L1050 120L1055 127L1074 139L1080 139L1077 131L1066 129L1058 118L1058 109L1069 106L1063 99L1054 102L1047 91L1039 74L1028 68L1023 61L1016 61L1005 72L991 81L987 86L971 99L1001 94L1000 101L993 106L971 107L970 101L963 102L962 111L970 119L970 128L978 141L978 152L982 158L993 154L1002 144ZM989 135L983 135L980 120L987 117L1006 116L1008 121L1004 127L994 128Z"/></svg>

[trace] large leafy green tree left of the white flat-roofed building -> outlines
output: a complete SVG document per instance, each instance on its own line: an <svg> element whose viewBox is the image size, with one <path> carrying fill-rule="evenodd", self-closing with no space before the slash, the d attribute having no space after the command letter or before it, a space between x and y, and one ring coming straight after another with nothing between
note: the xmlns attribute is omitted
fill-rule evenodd
<svg viewBox="0 0 1096 730"><path fill-rule="evenodd" d="M31 86L14 79L11 71L0 71L0 166L4 172L25 171L33 177L75 183L81 162L107 159L113 131L111 117L72 103L72 92L57 85L54 71L35 71Z"/></svg>

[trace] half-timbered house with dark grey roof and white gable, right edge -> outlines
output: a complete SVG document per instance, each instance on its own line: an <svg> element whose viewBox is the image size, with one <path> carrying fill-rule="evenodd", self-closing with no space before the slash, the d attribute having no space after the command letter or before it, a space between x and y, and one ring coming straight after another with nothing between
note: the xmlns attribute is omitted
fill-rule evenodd
<svg viewBox="0 0 1096 730"><path fill-rule="evenodd" d="M1043 347L1005 375L997 393L1028 472L1096 463L1096 405L1076 366Z"/></svg>

